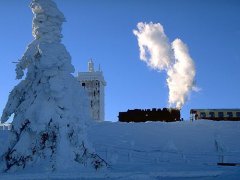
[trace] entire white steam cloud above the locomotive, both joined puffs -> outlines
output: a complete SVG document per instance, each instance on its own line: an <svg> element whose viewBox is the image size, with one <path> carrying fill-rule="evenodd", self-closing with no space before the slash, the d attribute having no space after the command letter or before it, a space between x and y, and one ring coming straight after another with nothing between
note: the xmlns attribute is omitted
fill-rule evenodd
<svg viewBox="0 0 240 180"><path fill-rule="evenodd" d="M160 23L138 23L137 36L140 59L155 70L167 72L169 88L168 103L181 109L194 90L195 66L187 46L175 39L171 44Z"/></svg>

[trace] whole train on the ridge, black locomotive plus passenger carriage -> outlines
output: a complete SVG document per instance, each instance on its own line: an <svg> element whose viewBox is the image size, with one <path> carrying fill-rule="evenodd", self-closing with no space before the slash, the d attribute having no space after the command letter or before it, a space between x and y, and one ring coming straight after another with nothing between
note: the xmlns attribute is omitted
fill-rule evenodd
<svg viewBox="0 0 240 180"><path fill-rule="evenodd" d="M183 121L176 108L133 109L119 112L120 122ZM191 109L190 120L240 121L240 109Z"/></svg>

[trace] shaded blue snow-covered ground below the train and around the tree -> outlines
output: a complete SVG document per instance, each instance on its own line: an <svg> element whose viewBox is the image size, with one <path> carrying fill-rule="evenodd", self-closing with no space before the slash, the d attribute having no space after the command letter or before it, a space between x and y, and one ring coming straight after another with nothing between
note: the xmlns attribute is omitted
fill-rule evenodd
<svg viewBox="0 0 240 180"><path fill-rule="evenodd" d="M103 122L88 129L108 170L1 174L0 179L239 179L240 122ZM0 143L8 131L0 131ZM0 148L1 151L1 148Z"/></svg>

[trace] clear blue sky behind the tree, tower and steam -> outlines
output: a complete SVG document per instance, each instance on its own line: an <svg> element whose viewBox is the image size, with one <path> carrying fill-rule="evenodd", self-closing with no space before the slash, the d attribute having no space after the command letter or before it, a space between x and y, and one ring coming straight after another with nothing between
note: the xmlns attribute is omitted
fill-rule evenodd
<svg viewBox="0 0 240 180"><path fill-rule="evenodd" d="M77 71L93 58L101 64L106 86L106 120L119 111L166 107L166 73L140 61L138 22L161 23L170 41L188 45L200 92L182 108L240 108L240 1L238 0L56 0L67 22L63 43ZM30 1L0 1L0 111L14 85L15 64L33 39ZM76 74L75 73L75 74Z"/></svg>

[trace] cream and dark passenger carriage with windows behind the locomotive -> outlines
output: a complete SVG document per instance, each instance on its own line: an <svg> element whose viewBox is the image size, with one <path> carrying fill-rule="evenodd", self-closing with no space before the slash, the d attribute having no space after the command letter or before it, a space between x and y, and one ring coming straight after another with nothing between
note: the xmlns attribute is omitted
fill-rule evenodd
<svg viewBox="0 0 240 180"><path fill-rule="evenodd" d="M240 121L240 109L191 109L191 120Z"/></svg>

